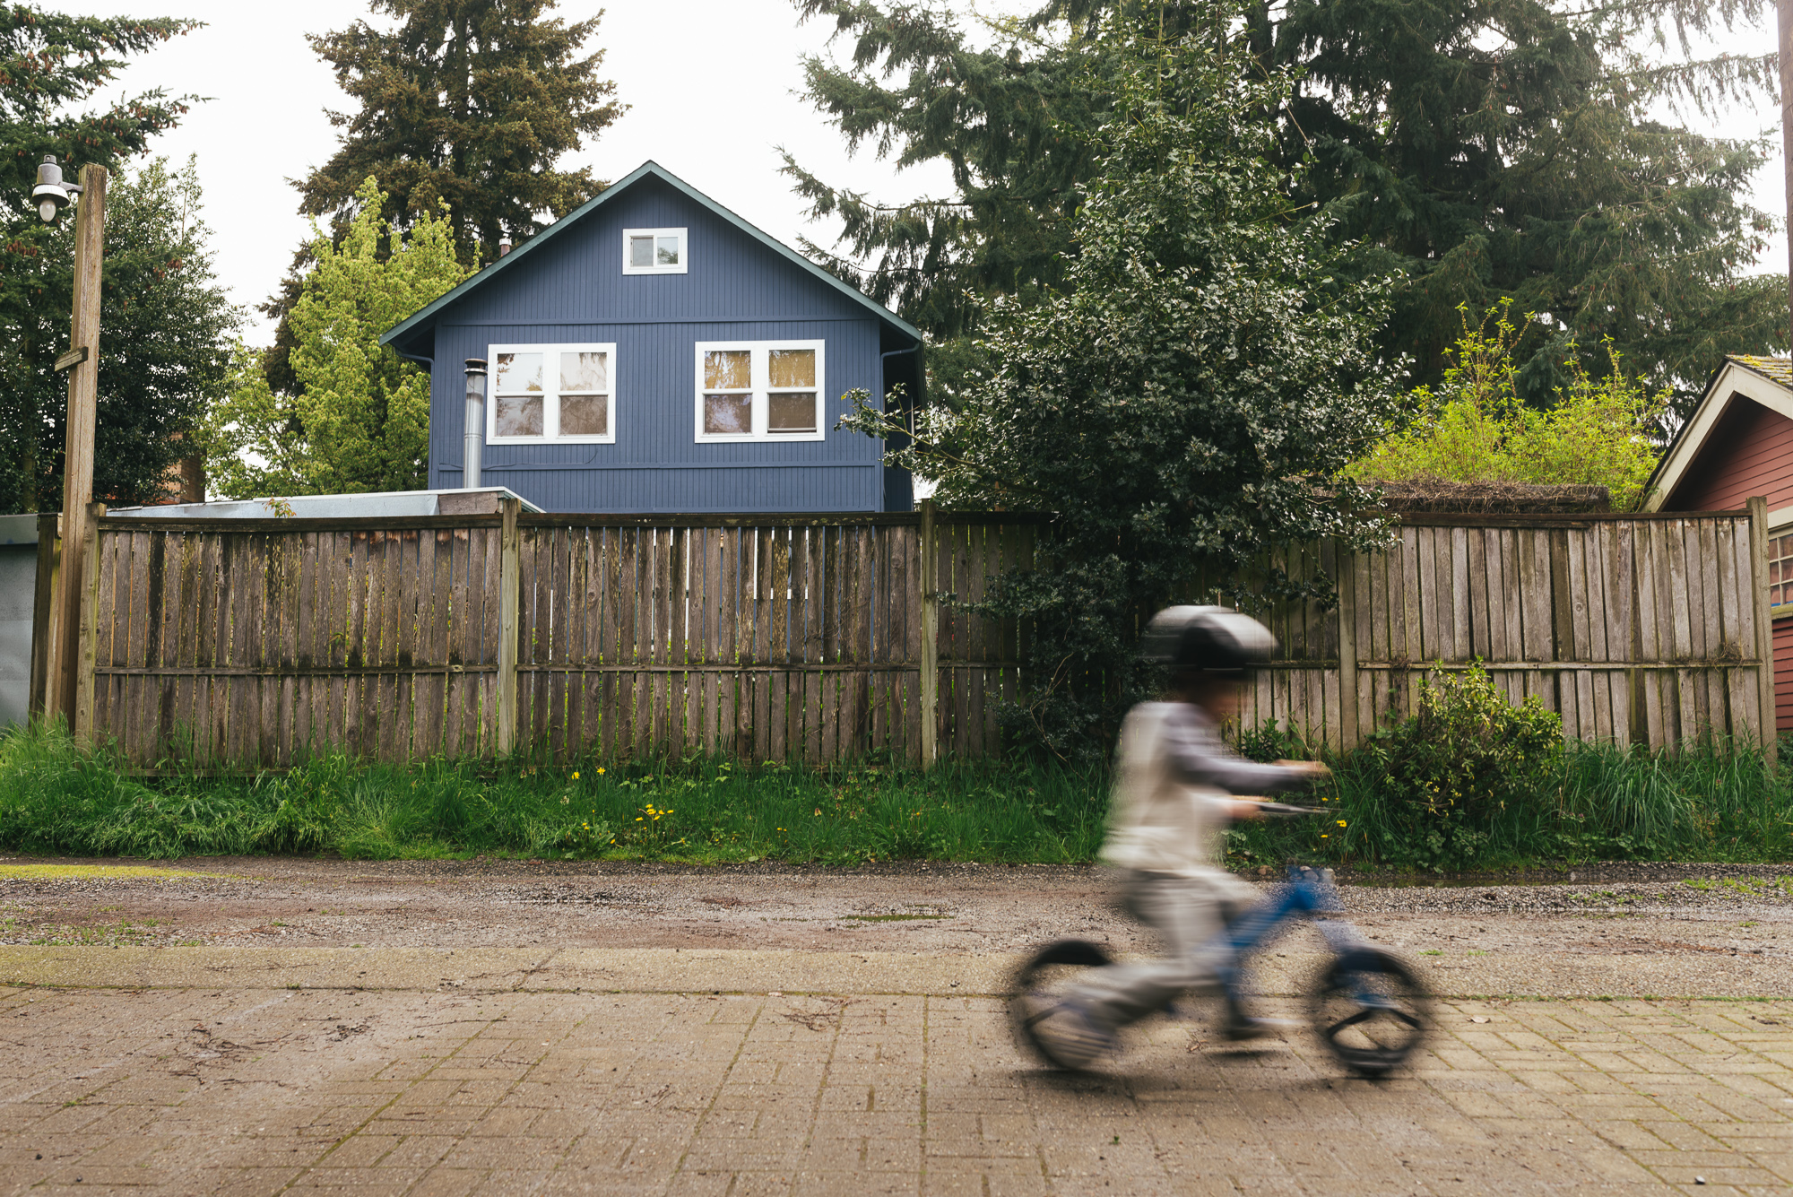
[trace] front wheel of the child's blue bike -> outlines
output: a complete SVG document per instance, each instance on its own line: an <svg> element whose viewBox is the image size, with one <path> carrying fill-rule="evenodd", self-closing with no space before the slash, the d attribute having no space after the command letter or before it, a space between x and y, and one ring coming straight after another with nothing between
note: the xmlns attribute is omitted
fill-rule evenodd
<svg viewBox="0 0 1793 1197"><path fill-rule="evenodd" d="M1406 960L1381 948L1336 957L1309 1009L1314 1032L1359 1077L1400 1068L1433 1023L1433 995Z"/></svg>

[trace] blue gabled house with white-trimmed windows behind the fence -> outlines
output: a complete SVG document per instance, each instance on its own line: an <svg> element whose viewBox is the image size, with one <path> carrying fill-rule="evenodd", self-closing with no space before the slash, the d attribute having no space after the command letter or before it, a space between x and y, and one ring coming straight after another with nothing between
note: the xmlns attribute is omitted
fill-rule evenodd
<svg viewBox="0 0 1793 1197"><path fill-rule="evenodd" d="M626 272L628 233L638 229L678 231L681 269ZM432 487L461 482L468 358L491 360L500 346L588 346L606 355L613 441L488 435L482 480L558 512L913 507L907 475L880 462L884 446L834 423L853 389L884 401L900 383L920 396L920 332L654 163L384 340L430 369ZM699 437L697 394L708 383L697 346L715 342L819 344L819 435ZM495 389L497 371L493 360Z"/></svg>

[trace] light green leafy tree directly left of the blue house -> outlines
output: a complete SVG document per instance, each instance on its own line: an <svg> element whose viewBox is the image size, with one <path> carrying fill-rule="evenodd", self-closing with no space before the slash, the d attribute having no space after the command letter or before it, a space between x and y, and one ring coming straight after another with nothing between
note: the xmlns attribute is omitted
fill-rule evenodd
<svg viewBox="0 0 1793 1197"><path fill-rule="evenodd" d="M380 344L380 333L470 271L448 220L421 215L409 233L380 217L369 176L341 249L312 224L317 265L292 306L296 396L267 385L238 349L228 400L206 425L206 469L230 498L407 491L427 486L430 378Z"/></svg>

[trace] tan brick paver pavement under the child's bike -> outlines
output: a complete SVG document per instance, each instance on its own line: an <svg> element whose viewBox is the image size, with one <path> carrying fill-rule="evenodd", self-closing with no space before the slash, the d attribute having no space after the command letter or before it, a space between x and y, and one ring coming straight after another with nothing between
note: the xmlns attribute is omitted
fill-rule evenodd
<svg viewBox="0 0 1793 1197"><path fill-rule="evenodd" d="M258 987L215 968L217 987L0 989L0 1192L1779 1193L1793 1181L1793 1002L1443 1002L1427 1055L1381 1084L1343 1077L1305 1032L1235 1050L1205 1043L1201 1021L1155 1021L1124 1075L1072 1079L1017 1054L992 996L355 991ZM1264 1005L1298 1014L1293 1000Z"/></svg>

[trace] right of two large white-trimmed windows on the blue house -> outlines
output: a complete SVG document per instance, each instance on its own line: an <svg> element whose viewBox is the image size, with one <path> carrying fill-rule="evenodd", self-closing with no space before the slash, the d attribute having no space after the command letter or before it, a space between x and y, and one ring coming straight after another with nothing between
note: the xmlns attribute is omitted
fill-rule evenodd
<svg viewBox="0 0 1793 1197"><path fill-rule="evenodd" d="M699 441L821 441L821 340L699 340Z"/></svg>

